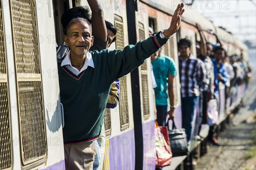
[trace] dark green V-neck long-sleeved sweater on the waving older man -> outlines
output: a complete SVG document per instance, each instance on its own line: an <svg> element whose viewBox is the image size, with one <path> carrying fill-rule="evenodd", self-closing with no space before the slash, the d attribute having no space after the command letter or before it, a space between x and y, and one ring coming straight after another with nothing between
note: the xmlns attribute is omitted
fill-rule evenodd
<svg viewBox="0 0 256 170"><path fill-rule="evenodd" d="M78 77L58 63L60 96L64 108L64 143L97 139L113 81L143 64L166 41L157 33L157 36L128 45L123 50L90 51L94 68L88 67Z"/></svg>

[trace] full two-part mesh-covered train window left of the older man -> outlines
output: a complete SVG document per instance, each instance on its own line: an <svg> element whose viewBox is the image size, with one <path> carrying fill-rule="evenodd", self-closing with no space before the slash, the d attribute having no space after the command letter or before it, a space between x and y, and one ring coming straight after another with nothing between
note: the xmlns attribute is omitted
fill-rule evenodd
<svg viewBox="0 0 256 170"><path fill-rule="evenodd" d="M44 163L47 155L35 0L11 1L23 166ZM34 163L34 164L33 164Z"/></svg>

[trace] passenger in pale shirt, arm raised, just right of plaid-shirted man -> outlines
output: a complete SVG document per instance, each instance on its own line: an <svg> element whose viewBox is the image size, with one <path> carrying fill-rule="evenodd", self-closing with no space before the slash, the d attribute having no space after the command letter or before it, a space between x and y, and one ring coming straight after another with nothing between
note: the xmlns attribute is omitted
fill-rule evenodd
<svg viewBox="0 0 256 170"><path fill-rule="evenodd" d="M199 50L197 49L198 58L204 62L204 69L206 71L205 79L202 85L202 95L201 95L201 123L207 124L207 107L210 99L213 99L214 93L214 71L213 71L213 63L210 59L209 55L211 54L212 46L207 45L206 37L204 34L204 30L197 23L196 24L199 35L200 35L200 45ZM208 46L208 48L207 48ZM199 130L200 131L200 130Z"/></svg>

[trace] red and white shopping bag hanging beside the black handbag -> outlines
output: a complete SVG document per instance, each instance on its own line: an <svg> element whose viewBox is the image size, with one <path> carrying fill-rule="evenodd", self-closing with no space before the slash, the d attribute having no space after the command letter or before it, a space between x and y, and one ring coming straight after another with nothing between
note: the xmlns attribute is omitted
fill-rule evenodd
<svg viewBox="0 0 256 170"><path fill-rule="evenodd" d="M172 162L172 150L169 142L168 128L159 126L155 121L155 138L156 138L156 167L165 167Z"/></svg>

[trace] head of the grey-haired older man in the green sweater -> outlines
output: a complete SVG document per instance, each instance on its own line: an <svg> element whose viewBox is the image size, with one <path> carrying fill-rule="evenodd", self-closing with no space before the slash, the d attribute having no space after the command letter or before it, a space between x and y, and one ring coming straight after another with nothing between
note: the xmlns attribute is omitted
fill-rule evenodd
<svg viewBox="0 0 256 170"><path fill-rule="evenodd" d="M70 57L86 57L86 53L93 45L90 26L84 21L73 23L64 40L70 48Z"/></svg>

